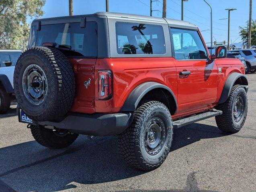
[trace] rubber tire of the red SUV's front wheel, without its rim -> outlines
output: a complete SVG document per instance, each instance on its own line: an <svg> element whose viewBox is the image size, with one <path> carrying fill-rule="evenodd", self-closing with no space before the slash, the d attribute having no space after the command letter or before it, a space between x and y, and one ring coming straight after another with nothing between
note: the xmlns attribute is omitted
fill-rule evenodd
<svg viewBox="0 0 256 192"><path fill-rule="evenodd" d="M239 122L236 122L234 120L233 110L238 96L242 97L242 100L244 102L244 111L241 120ZM244 125L248 111L248 99L244 87L242 85L233 86L227 101L222 104L219 104L216 108L218 110L223 111L222 115L215 116L218 128L221 131L227 133L239 132L242 126Z"/></svg>

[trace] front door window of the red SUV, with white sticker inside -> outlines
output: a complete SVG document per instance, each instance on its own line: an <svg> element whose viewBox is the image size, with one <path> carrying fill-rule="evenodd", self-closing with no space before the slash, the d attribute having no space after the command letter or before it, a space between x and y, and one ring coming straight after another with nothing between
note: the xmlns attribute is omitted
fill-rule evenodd
<svg viewBox="0 0 256 192"><path fill-rule="evenodd" d="M170 28L174 54L180 59L207 59L207 51L197 31Z"/></svg>

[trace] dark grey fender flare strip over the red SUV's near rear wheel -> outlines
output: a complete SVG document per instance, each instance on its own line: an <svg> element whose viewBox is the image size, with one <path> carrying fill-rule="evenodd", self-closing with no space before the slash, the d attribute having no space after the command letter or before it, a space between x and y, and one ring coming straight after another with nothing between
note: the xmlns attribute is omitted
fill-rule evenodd
<svg viewBox="0 0 256 192"><path fill-rule="evenodd" d="M143 96L145 96L145 94L147 94L147 92L156 89L156 88L162 88L167 90L168 92L170 92L170 94L172 95L172 97L174 98L175 101L175 105L176 105L176 110L177 110L177 100L175 98L174 93L172 92L172 90L170 88L168 88L167 86L157 83L157 82L145 82L143 84L140 84L139 86L137 86L135 89L132 90L132 92L129 94L129 96L127 97L127 99L125 100L123 107L121 108L121 111L135 111L140 100L143 98ZM175 111L176 113L176 111Z"/></svg>

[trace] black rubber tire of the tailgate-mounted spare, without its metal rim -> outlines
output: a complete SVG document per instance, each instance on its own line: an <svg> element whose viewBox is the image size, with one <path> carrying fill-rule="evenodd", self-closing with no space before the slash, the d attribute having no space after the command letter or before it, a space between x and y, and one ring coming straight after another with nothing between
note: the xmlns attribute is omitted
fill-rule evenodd
<svg viewBox="0 0 256 192"><path fill-rule="evenodd" d="M47 94L41 104L29 102L23 91L23 74L32 64L39 66L47 79ZM33 47L18 59L14 70L14 90L20 108L35 121L56 120L71 108L75 96L73 68L67 57L56 48Z"/></svg>

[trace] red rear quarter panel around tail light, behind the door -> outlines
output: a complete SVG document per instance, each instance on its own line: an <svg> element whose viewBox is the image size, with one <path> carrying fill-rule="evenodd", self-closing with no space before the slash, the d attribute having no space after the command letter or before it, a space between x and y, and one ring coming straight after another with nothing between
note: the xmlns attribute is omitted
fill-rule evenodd
<svg viewBox="0 0 256 192"><path fill-rule="evenodd" d="M95 98L96 112L118 112L131 91L144 82L158 82L168 86L177 98L177 75L173 58L106 58L98 59L96 71L113 72L113 97L102 101ZM96 80L96 92L98 85Z"/></svg>

